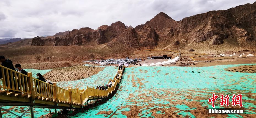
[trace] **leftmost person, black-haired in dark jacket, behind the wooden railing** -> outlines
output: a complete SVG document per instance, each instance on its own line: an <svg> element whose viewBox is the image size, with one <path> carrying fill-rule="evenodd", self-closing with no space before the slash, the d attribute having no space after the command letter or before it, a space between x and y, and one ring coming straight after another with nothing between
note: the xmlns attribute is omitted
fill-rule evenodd
<svg viewBox="0 0 256 118"><path fill-rule="evenodd" d="M11 60L9 60L9 59L5 59L5 57L4 56L0 56L0 61L2 62L2 66L4 66L4 67L7 67L7 68L10 68L10 69L12 69L12 70L14 70L15 71L15 68L13 67L13 65L12 65L12 61ZM11 71L8 71L9 72L9 82L10 82L10 88L11 89L15 89L16 88L16 84L15 84L15 79L14 79L14 72L13 72L13 78L11 78ZM4 74L4 75L2 75L2 74ZM3 78L3 76L4 76L4 78L5 78L5 84L6 84L6 87L8 87L8 82L7 82L7 76L6 76L7 74L6 74L6 69L4 69L4 73L2 73L2 70L1 70L1 72L0 72L0 78ZM14 87L12 86L12 80L13 80L13 83L14 83ZM13 90L9 90L9 91L13 91Z"/></svg>

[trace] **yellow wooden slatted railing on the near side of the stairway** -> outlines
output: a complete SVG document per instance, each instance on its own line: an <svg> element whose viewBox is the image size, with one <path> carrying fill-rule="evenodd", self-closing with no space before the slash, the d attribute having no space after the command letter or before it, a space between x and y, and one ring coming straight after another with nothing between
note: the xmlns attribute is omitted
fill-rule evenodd
<svg viewBox="0 0 256 118"><path fill-rule="evenodd" d="M113 91L115 91L117 84L120 82L122 77L124 67L121 73L117 73L114 79L110 79L108 84L112 82L112 86L108 87L107 90L100 90L89 88L86 89L63 89L58 87L56 83L48 84L39 79L33 78L32 73L28 75L21 74L10 68L6 68L0 65L2 78L0 79L0 90L12 90L14 92L21 92L23 94L32 95L33 98L38 97L44 99L53 99L53 102L61 102L71 105L82 106L86 103L87 100L100 99L102 97L107 97ZM119 75L119 79L116 76Z"/></svg>

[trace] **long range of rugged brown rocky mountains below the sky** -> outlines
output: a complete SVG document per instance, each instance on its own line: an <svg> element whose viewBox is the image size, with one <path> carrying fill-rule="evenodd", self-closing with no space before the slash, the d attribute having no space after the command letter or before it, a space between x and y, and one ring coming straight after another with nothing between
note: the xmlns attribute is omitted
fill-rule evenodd
<svg viewBox="0 0 256 118"><path fill-rule="evenodd" d="M58 33L57 33L58 34ZM110 26L73 29L63 37L40 39L31 46L116 44L130 48L160 48L197 52L256 48L256 2L228 10L210 11L175 21L160 12L132 28L118 21ZM219 48L222 47L222 48Z"/></svg>

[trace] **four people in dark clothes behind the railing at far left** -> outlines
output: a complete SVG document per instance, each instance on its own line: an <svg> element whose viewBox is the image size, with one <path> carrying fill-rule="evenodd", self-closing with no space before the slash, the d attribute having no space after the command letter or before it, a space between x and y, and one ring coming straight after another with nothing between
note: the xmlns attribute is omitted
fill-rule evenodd
<svg viewBox="0 0 256 118"><path fill-rule="evenodd" d="M28 72L26 70L24 70L23 68L21 68L20 64L15 64L15 66L13 66L12 61L9 60L9 59L6 59L4 56L0 56L0 62L2 63L1 65L4 66L4 67L10 68L11 70L14 70L14 71L17 71L18 73L22 73L24 75L28 75ZM24 80L24 78L18 78L19 77L18 74L15 75L14 72L9 71L9 70L8 70L8 73L12 73L13 77L11 77L11 74L7 74L7 70L5 68L4 68L3 71L1 70L1 72L0 72L0 78L3 78L3 74L4 74L6 87L9 87L11 89L16 89L16 90L22 90L22 88L21 88L21 86L22 86L24 88L23 90L25 90L25 92L27 92L27 89L28 89L27 88L28 79L26 81L26 80ZM9 76L7 77L7 75L9 75ZM53 85L53 83L51 83L51 81L49 79L47 81L45 81L45 78L43 78L43 76L40 73L37 73L36 76L37 76L37 79L39 79L39 80L41 80L43 82L46 82L48 84L52 84ZM7 78L9 78L10 86L8 85ZM21 82L21 86L20 86L20 84L18 84L18 86L16 86L16 84L15 84L15 80L16 79L15 78L17 78L17 83ZM14 86L12 86L12 81L14 83ZM36 81L36 87L38 85L41 86L40 83L38 83ZM46 88L46 86L42 86L42 87ZM13 92L13 90L9 90L9 91ZM17 91L15 91L15 92L17 92ZM39 92L38 87L37 87L37 92Z"/></svg>

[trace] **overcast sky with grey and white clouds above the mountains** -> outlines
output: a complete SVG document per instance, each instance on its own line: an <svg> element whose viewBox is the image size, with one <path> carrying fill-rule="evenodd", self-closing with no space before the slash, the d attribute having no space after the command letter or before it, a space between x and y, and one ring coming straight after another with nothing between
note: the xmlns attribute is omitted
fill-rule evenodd
<svg viewBox="0 0 256 118"><path fill-rule="evenodd" d="M226 10L255 0L1 0L0 38L54 35L72 29L97 29L121 21L144 24L164 12L176 21L211 10Z"/></svg>

